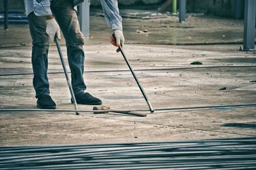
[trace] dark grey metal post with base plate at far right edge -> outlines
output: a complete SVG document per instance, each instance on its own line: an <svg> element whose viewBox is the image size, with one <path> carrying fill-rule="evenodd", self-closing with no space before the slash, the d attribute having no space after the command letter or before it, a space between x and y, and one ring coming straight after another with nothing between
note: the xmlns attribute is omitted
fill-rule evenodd
<svg viewBox="0 0 256 170"><path fill-rule="evenodd" d="M244 10L244 51L254 50L256 1L245 0Z"/></svg>

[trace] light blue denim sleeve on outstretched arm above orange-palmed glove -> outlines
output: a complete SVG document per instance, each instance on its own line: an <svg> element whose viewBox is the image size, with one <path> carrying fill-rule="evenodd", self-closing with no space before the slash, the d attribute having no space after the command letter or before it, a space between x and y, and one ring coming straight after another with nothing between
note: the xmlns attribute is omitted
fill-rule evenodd
<svg viewBox="0 0 256 170"><path fill-rule="evenodd" d="M119 14L117 0L100 0L108 26L112 30L123 30L122 17Z"/></svg>

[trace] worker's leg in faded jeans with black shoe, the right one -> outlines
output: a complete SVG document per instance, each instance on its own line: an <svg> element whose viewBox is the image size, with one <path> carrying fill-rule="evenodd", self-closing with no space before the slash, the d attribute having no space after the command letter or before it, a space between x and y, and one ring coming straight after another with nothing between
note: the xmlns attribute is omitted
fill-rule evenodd
<svg viewBox="0 0 256 170"><path fill-rule="evenodd" d="M61 31L66 40L68 64L71 71L72 88L80 104L101 104L102 102L84 93L84 36L79 28L76 10L70 0L51 1L51 10L60 25Z"/></svg>

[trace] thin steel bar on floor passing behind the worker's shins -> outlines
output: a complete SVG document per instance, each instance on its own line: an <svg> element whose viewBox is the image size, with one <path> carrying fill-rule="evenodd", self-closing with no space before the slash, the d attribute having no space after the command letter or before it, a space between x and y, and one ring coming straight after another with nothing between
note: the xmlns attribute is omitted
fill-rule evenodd
<svg viewBox="0 0 256 170"><path fill-rule="evenodd" d="M134 71L168 71L168 70L184 70L184 69L215 69L215 68L238 68L238 67L256 67L251 66L203 66L203 67L173 67L173 68L157 68L157 69L134 69ZM108 72L126 72L129 69L106 69L106 70L95 70L95 71L84 71L84 73L108 73ZM63 71L48 72L47 74L63 74ZM70 72L68 72L70 73ZM20 76L20 75L33 75L30 73L3 73L0 76Z"/></svg>

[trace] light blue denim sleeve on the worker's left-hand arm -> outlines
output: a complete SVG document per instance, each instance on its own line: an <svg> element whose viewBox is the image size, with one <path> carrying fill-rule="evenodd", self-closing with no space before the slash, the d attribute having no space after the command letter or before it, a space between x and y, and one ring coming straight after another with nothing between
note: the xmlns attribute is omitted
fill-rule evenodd
<svg viewBox="0 0 256 170"><path fill-rule="evenodd" d="M50 0L33 0L34 13L37 16L52 15Z"/></svg>

